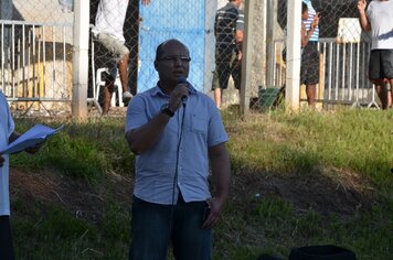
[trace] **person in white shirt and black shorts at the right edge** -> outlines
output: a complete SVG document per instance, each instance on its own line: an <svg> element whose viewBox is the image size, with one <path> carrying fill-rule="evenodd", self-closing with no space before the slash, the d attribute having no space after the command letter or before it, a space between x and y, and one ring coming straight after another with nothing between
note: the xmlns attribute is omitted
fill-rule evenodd
<svg viewBox="0 0 393 260"><path fill-rule="evenodd" d="M387 109L393 99L393 1L374 0L367 11L365 8L365 0L358 1L360 24L371 32L369 78L375 85L382 109Z"/></svg>

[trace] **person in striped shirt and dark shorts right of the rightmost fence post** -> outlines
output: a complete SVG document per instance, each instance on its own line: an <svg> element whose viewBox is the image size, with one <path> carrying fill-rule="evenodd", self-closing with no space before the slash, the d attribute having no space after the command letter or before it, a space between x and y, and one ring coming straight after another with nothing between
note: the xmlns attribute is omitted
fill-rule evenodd
<svg viewBox="0 0 393 260"><path fill-rule="evenodd" d="M304 20L306 26L306 32L311 30L311 24L315 22L317 17L319 21L318 13L312 7L311 0L304 0L304 3L308 7L308 19ZM302 50L301 55L301 67L300 67L300 84L306 85L306 95L308 106L315 108L316 106L316 94L317 84L319 83L319 51L318 51L318 40L319 40L319 28L318 24L315 26L311 36L308 40L307 45Z"/></svg>

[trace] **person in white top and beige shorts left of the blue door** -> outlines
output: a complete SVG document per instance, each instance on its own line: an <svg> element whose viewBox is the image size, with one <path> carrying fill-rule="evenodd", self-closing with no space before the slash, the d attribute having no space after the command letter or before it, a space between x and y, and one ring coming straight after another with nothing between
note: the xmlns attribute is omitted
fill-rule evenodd
<svg viewBox="0 0 393 260"><path fill-rule="evenodd" d="M150 0L141 0L141 2L149 4ZM123 87L123 102L128 104L132 98L132 95L128 91L129 50L125 45L126 40L123 31L127 7L128 0L100 0L95 26L92 30L96 41L107 48L110 55L109 75L105 80L104 99L102 101L103 113L109 111L117 71Z"/></svg>

